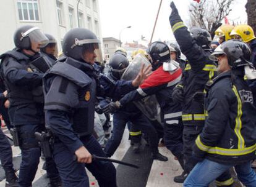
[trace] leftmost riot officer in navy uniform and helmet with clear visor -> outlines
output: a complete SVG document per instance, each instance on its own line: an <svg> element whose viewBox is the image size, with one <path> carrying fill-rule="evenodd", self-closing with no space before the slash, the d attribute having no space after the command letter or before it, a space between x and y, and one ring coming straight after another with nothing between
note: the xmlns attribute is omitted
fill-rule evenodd
<svg viewBox="0 0 256 187"><path fill-rule="evenodd" d="M32 186L39 164L41 151L34 133L45 129L41 70L49 66L39 52L47 42L39 28L22 26L14 34L16 48L1 55L2 77L10 101L9 116L15 127L13 135L22 150L19 186L24 187ZM52 186L61 186L56 167L51 167L48 175Z"/></svg>

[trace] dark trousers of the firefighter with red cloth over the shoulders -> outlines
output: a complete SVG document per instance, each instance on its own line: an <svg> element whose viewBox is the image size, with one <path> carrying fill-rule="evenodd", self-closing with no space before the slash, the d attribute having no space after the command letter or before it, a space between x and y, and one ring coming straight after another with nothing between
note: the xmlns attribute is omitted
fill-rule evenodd
<svg viewBox="0 0 256 187"><path fill-rule="evenodd" d="M181 119L177 124L164 123L164 145L178 159L183 159L183 140L182 140L183 124Z"/></svg>

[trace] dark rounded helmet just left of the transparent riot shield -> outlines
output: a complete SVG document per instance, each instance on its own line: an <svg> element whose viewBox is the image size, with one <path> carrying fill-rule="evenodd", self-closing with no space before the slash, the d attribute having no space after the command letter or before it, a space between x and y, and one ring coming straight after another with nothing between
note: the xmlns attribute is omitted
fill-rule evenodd
<svg viewBox="0 0 256 187"><path fill-rule="evenodd" d="M129 60L123 54L114 54L109 60L109 73L119 80L129 66Z"/></svg>

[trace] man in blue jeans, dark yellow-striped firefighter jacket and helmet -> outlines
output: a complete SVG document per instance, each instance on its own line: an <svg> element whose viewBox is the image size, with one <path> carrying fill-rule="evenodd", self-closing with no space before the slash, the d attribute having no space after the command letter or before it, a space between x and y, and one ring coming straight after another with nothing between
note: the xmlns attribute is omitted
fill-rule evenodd
<svg viewBox="0 0 256 187"><path fill-rule="evenodd" d="M250 167L255 159L256 109L244 81L245 66L252 66L249 46L229 40L215 49L220 75L207 83L205 127L198 135L193 154L200 160L184 186L208 186L221 173L234 166L245 186L256 186L256 173Z"/></svg>

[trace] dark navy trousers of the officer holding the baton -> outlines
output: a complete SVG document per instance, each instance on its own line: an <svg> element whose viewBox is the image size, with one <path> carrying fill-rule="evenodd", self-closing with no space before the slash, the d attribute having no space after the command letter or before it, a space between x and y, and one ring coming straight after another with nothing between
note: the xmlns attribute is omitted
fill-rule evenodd
<svg viewBox="0 0 256 187"><path fill-rule="evenodd" d="M80 140L91 154L106 157L93 135L82 137ZM54 143L53 156L61 176L62 187L90 186L85 167L93 174L100 187L116 187L116 169L111 162L95 160L91 164L79 163L74 159L74 153L61 141Z"/></svg>

